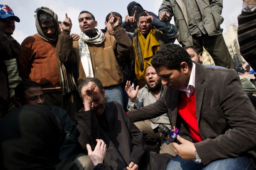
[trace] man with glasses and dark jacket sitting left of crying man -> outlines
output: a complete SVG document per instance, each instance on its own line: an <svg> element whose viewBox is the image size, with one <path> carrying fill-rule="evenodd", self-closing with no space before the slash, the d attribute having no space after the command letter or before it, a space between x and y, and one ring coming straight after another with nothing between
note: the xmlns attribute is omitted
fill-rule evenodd
<svg viewBox="0 0 256 170"><path fill-rule="evenodd" d="M21 107L26 104L44 104L44 93L40 84L35 81L23 81L15 87L17 104ZM45 105L55 115L60 129L60 159L76 162L80 169L93 170L90 158L81 153L78 143L78 131L67 111L57 106Z"/></svg>

